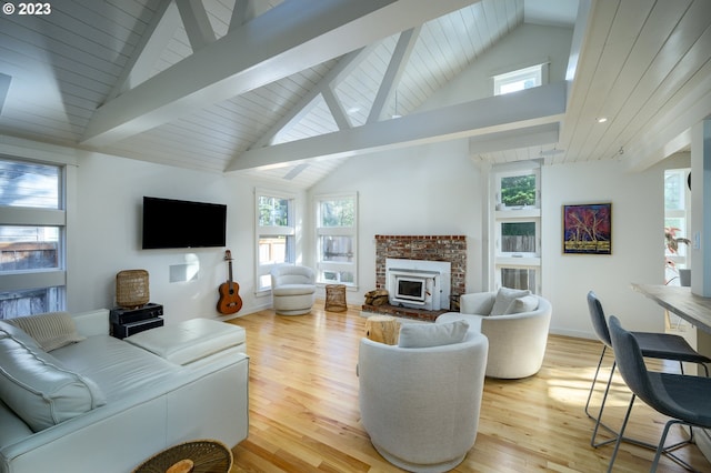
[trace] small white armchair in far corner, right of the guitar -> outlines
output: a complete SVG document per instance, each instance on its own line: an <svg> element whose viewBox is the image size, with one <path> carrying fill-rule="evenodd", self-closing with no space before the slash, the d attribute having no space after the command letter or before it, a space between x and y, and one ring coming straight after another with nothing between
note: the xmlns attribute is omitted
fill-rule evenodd
<svg viewBox="0 0 711 473"><path fill-rule="evenodd" d="M316 274L311 268L280 264L271 270L271 294L280 315L311 312L316 300Z"/></svg>

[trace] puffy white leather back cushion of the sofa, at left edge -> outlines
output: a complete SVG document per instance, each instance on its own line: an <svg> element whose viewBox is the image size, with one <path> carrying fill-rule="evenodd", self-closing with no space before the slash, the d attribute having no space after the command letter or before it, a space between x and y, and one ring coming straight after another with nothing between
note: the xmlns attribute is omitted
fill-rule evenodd
<svg viewBox="0 0 711 473"><path fill-rule="evenodd" d="M0 331L0 399L38 432L106 403L99 386Z"/></svg>

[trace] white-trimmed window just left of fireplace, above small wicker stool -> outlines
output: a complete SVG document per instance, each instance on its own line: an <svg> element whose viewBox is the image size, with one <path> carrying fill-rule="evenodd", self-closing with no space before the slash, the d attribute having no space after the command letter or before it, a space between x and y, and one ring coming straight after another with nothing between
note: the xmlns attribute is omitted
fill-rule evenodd
<svg viewBox="0 0 711 473"><path fill-rule="evenodd" d="M317 282L358 283L358 195L316 197Z"/></svg>

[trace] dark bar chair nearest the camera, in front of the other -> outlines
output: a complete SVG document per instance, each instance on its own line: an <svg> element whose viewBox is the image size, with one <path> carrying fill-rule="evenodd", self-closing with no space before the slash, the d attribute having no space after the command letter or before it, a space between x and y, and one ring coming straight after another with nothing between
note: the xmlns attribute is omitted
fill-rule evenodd
<svg viewBox="0 0 711 473"><path fill-rule="evenodd" d="M610 457L608 472L612 471L612 465L620 450L624 429L630 419L630 412L632 411L632 404L634 404L635 397L641 399L655 411L671 417L662 431L662 436L657 445L657 453L654 454L650 471L657 471L662 454L665 454L687 470L694 471L691 465L671 452L671 450L679 449L683 444L692 443L693 430L688 441L682 441L667 447L664 443L670 427L674 424L711 429L711 403L709 402L711 379L648 371L637 336L624 330L620 324L620 320L614 315L610 316L610 336L612 340L612 350L614 351L614 360L617 361L622 379L630 391L632 391L632 399L630 400L627 414L622 421L622 427L620 429L614 451Z"/></svg>

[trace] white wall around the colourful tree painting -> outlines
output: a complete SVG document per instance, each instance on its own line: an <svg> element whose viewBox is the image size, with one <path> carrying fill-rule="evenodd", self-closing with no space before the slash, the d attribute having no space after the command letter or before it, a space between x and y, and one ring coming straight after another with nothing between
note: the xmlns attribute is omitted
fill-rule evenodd
<svg viewBox="0 0 711 473"><path fill-rule="evenodd" d="M542 184L542 282L552 332L594 338L590 290L628 329L663 331L661 309L630 286L663 283L662 169L629 173L620 161L552 165L543 168ZM563 254L562 205L600 202L612 202L612 254Z"/></svg>

